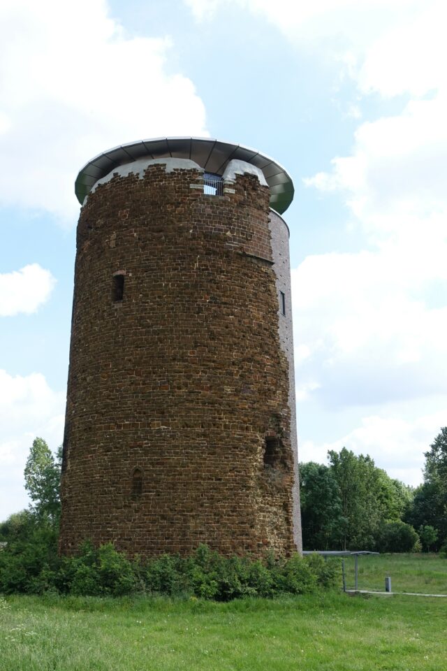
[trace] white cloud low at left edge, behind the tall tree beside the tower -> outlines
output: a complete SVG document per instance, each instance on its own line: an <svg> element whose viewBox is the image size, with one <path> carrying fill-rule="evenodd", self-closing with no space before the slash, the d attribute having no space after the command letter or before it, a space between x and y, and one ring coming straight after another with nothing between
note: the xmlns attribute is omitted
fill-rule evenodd
<svg viewBox="0 0 447 671"><path fill-rule="evenodd" d="M64 431L63 394L50 389L41 373L12 376L0 370L0 520L27 507L23 470L29 448L44 438L55 450Z"/></svg>

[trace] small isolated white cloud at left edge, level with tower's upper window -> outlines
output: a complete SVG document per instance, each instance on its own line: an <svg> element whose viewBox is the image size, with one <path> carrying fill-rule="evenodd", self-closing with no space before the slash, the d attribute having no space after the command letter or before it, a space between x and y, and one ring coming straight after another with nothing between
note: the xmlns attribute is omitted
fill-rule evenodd
<svg viewBox="0 0 447 671"><path fill-rule="evenodd" d="M50 270L38 264L0 273L0 317L36 312L50 298L54 284Z"/></svg>

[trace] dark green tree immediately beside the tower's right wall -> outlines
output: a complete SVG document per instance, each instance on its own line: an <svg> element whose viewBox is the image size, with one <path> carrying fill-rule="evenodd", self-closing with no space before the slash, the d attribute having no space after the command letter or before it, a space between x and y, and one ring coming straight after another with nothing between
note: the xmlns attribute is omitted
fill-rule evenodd
<svg viewBox="0 0 447 671"><path fill-rule="evenodd" d="M302 542L304 549L341 547L346 519L337 481L328 466L300 464Z"/></svg>

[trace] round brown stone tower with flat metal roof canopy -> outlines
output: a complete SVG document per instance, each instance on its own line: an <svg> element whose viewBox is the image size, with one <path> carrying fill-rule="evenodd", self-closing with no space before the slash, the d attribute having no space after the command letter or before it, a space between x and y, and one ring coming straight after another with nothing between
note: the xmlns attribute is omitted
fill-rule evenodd
<svg viewBox="0 0 447 671"><path fill-rule="evenodd" d="M145 140L76 194L61 552L301 549L286 171Z"/></svg>

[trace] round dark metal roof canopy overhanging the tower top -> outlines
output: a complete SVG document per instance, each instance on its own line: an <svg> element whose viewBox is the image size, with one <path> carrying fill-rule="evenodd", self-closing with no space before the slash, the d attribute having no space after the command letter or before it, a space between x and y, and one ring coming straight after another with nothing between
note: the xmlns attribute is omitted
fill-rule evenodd
<svg viewBox="0 0 447 671"><path fill-rule="evenodd" d="M280 215L293 200L293 182L282 166L256 149L211 138L154 138L113 147L91 159L75 182L78 201L84 202L95 182L113 168L138 159L191 159L209 173L222 175L229 161L238 159L261 168L270 189L270 207Z"/></svg>

